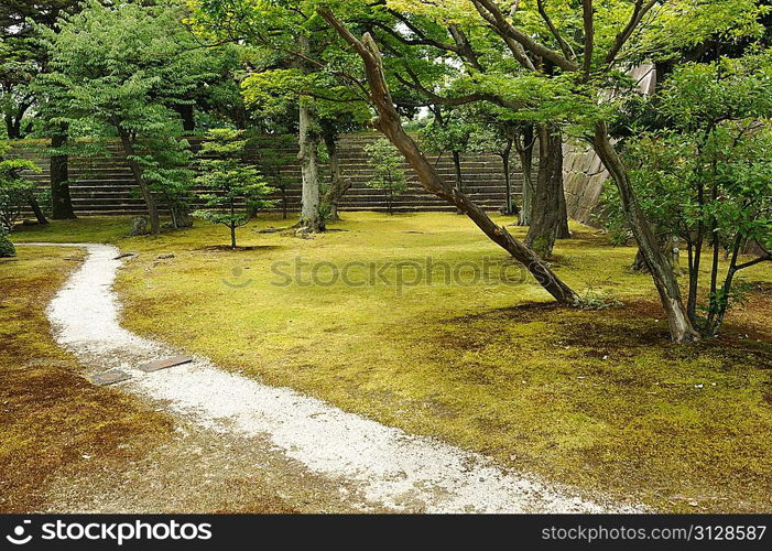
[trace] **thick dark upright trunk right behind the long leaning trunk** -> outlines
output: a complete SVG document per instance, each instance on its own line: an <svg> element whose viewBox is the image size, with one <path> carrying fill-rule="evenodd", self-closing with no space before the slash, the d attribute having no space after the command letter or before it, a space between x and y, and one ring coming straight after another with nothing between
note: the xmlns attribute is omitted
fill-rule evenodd
<svg viewBox="0 0 772 551"><path fill-rule="evenodd" d="M539 126L539 174L531 204L531 227L525 245L543 258L552 255L561 222L563 155L561 132L553 126Z"/></svg>

